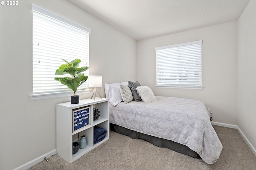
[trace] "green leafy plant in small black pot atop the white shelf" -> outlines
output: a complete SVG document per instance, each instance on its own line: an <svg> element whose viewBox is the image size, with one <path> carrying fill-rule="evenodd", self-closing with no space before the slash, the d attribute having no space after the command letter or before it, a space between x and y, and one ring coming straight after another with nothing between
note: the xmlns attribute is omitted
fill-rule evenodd
<svg viewBox="0 0 256 170"><path fill-rule="evenodd" d="M87 79L88 76L84 76L83 71L86 71L89 67L79 67L80 59L74 59L70 62L62 59L66 64L60 65L59 69L55 71L55 75L65 75L70 74L71 77L55 77L55 80L60 81L60 83L68 86L71 90L74 91L74 96L71 96L71 104L79 103L79 96L76 95L77 88L82 85Z"/></svg>

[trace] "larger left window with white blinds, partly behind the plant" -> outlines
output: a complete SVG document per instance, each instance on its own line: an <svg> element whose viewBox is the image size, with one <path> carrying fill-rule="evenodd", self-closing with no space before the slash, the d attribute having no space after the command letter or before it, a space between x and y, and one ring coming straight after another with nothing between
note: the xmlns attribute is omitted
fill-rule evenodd
<svg viewBox="0 0 256 170"><path fill-rule="evenodd" d="M54 80L62 59L81 59L89 67L90 29L32 4L33 10L33 95L71 91ZM84 72L88 75L88 70ZM68 76L68 75L63 75ZM85 89L87 81L78 90ZM31 97L31 96L30 96Z"/></svg>

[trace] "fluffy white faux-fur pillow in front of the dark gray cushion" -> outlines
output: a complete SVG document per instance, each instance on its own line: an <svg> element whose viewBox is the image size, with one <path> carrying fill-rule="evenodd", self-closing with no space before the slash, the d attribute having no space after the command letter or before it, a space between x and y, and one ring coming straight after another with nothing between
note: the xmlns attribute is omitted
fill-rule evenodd
<svg viewBox="0 0 256 170"><path fill-rule="evenodd" d="M136 90L143 102L150 103L156 101L153 91L148 86L138 86Z"/></svg>

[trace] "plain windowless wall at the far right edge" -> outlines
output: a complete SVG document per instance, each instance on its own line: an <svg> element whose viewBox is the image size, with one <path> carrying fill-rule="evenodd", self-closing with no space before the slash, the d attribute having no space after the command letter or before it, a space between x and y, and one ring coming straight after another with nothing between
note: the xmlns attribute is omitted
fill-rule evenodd
<svg viewBox="0 0 256 170"><path fill-rule="evenodd" d="M238 127L256 148L256 0L238 19Z"/></svg>

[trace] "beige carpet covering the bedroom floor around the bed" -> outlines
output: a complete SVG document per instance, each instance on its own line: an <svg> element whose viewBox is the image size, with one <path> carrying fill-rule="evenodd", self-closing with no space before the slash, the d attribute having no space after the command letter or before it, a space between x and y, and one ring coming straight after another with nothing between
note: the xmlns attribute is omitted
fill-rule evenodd
<svg viewBox="0 0 256 170"><path fill-rule="evenodd" d="M237 129L213 125L223 149L214 164L110 131L110 139L69 164L53 155L29 170L256 170L256 156Z"/></svg>

